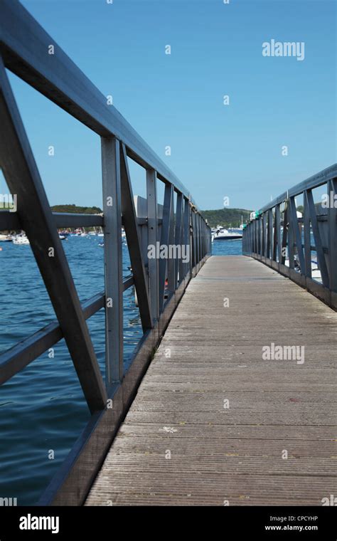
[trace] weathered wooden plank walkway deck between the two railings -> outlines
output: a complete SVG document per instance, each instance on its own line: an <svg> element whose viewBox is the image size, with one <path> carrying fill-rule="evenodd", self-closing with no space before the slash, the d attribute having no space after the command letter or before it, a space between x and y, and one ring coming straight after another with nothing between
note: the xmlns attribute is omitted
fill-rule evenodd
<svg viewBox="0 0 337 541"><path fill-rule="evenodd" d="M272 342L304 346L304 363L263 360ZM336 342L336 312L310 293L211 257L85 505L322 505L337 495Z"/></svg>

